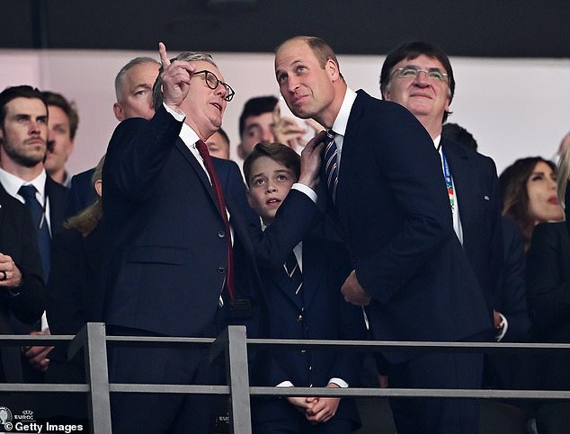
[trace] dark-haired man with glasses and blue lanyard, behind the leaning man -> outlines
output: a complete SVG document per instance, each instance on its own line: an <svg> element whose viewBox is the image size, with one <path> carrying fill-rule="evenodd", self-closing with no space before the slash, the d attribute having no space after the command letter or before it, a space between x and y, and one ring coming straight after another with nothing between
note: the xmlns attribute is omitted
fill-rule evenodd
<svg viewBox="0 0 570 434"><path fill-rule="evenodd" d="M507 320L494 310L503 264L499 180L491 158L441 136L455 91L450 59L430 43L406 43L384 60L380 91L385 100L411 111L432 137L441 156L453 228L484 291L489 310L494 311L494 330L489 331L489 339L494 335L502 338L508 329Z"/></svg>

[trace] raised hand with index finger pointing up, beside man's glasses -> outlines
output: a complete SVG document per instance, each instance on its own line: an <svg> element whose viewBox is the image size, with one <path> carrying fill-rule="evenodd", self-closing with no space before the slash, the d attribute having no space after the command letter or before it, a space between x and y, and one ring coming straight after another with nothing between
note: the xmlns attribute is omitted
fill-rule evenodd
<svg viewBox="0 0 570 434"><path fill-rule="evenodd" d="M164 68L160 75L163 81L163 101L174 111L181 111L180 106L188 95L191 77L196 71L196 66L182 60L174 60L171 63L166 54L166 46L162 42L158 43L158 53Z"/></svg>

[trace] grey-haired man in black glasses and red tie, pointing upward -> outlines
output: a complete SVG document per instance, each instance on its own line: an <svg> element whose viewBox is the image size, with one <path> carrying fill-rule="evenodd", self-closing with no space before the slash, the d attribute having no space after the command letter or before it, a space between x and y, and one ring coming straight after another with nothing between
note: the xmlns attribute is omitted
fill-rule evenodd
<svg viewBox="0 0 570 434"><path fill-rule="evenodd" d="M209 167L202 144L220 127L233 90L205 53L182 53L171 63L161 43L160 55L164 72L154 87L155 116L121 122L103 167L103 317L116 334L214 336L227 323L254 324L261 287L256 257L263 260L267 253L266 261L272 261L276 244L292 249L319 212L307 194L295 191L283 214L297 221L302 213L306 220L272 227L269 235L255 228L250 234L239 208L216 193L217 169ZM316 182L321 147L306 148L312 165L299 181L308 190ZM259 238L268 243L254 244ZM279 255L275 260L281 261ZM207 351L191 348L111 349L110 377L119 383L217 381ZM210 401L197 395L116 394L113 430L210 432ZM149 408L160 409L160 417L140 411Z"/></svg>

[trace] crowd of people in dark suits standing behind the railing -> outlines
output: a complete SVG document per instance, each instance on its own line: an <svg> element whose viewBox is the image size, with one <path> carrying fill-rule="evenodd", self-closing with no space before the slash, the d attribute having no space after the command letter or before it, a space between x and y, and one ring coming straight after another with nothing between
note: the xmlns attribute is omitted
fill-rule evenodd
<svg viewBox="0 0 570 434"><path fill-rule="evenodd" d="M447 122L456 77L427 42L388 53L381 99L355 92L316 37L275 51L281 97L255 96L229 159L234 90L207 53L134 58L116 76L106 154L73 177L77 108L58 93L0 93L0 332L378 341L567 342L570 238L559 163L522 158L497 176L475 138ZM308 141L307 132L313 131ZM104 190L103 190L104 185ZM104 194L103 194L104 191ZM257 350L253 385L363 385L370 354ZM64 345L0 348L0 381L85 382ZM221 384L207 350L111 346L112 383ZM570 358L388 350L367 386L568 390ZM368 365L366 365L368 366ZM85 421L76 394L7 395L48 421ZM566 426L518 405L530 432ZM476 400L390 400L396 430L477 433ZM159 408L161 417L141 409ZM211 433L214 395L111 394L115 432ZM564 412L563 412L564 413ZM252 399L253 430L349 433L349 397ZM554 425L552 425L554 424ZM566 424L566 425L565 425ZM558 431L564 432L564 431Z"/></svg>

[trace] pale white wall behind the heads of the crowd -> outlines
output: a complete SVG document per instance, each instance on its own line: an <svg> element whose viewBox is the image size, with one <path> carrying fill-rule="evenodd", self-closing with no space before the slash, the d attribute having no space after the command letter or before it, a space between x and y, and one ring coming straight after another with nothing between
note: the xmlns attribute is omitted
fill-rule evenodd
<svg viewBox="0 0 570 434"><path fill-rule="evenodd" d="M237 160L237 120L245 101L279 94L273 55L212 54L236 91L223 128ZM31 84L76 102L80 121L76 150L67 168L78 173L93 167L103 154L117 124L111 109L114 77L137 56L158 58L156 52L4 49L0 50L0 89ZM383 60L384 56L339 56L349 86L377 97ZM494 158L499 173L517 158L555 155L570 130L570 59L451 58L451 64L457 86L449 121L476 137L479 151Z"/></svg>

